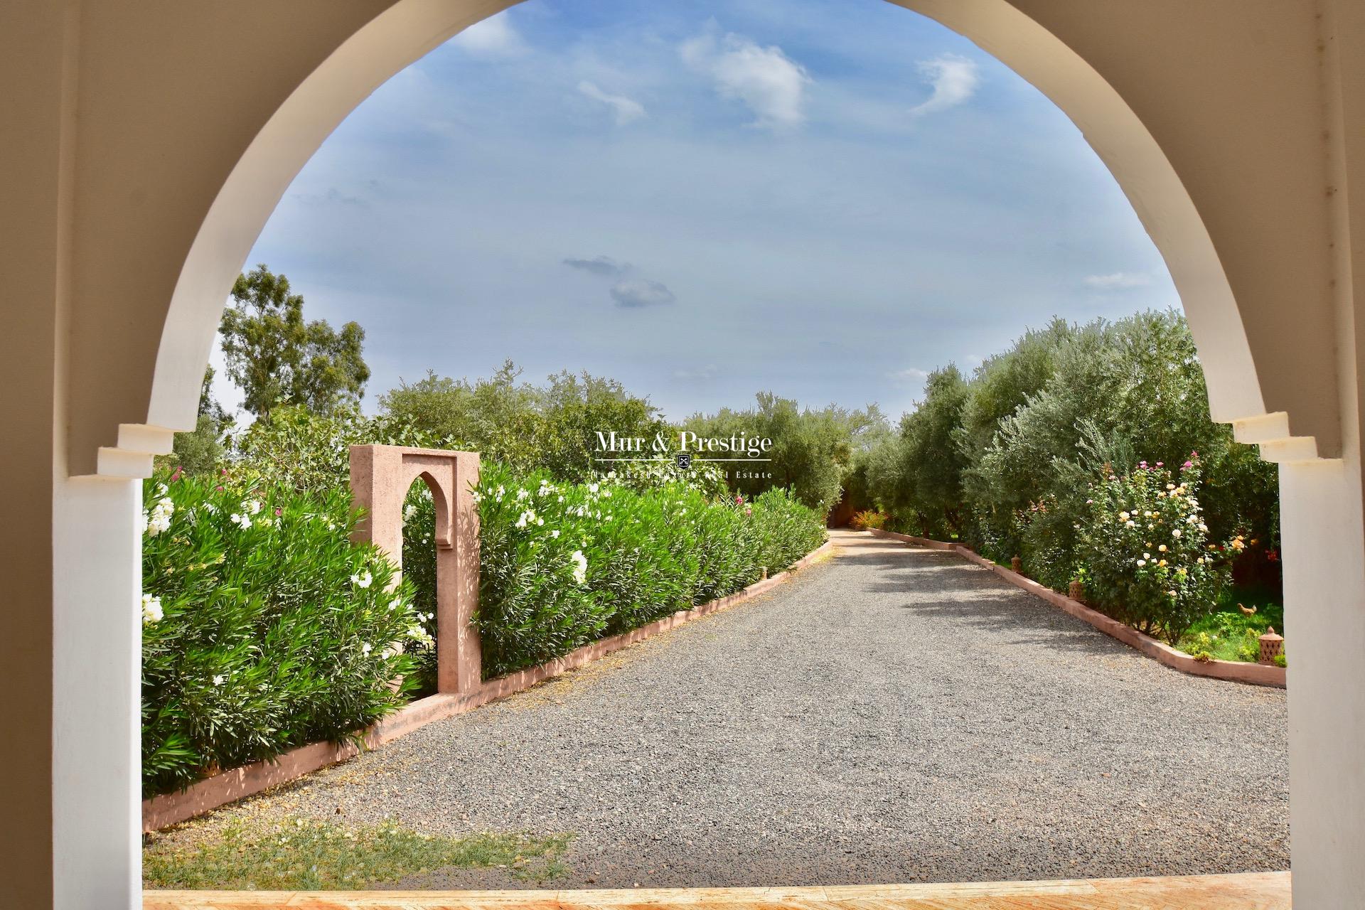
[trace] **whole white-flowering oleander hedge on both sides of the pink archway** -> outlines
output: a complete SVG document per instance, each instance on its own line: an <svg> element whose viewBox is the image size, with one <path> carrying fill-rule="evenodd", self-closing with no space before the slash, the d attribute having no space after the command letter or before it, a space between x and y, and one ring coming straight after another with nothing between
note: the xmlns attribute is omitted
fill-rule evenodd
<svg viewBox="0 0 1365 910"><path fill-rule="evenodd" d="M404 510L404 580L349 533L344 483L161 473L145 484L142 767L147 795L341 741L430 688L430 497ZM333 469L334 471L334 469ZM752 502L663 473L562 483L485 464L483 671L500 675L786 569L824 540L785 491Z"/></svg>

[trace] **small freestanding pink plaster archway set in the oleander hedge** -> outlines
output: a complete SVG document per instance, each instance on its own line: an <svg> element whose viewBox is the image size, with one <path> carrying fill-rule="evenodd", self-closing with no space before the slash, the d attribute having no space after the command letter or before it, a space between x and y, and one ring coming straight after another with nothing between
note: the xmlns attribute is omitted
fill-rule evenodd
<svg viewBox="0 0 1365 910"><path fill-rule="evenodd" d="M351 493L364 517L352 540L371 542L403 569L403 501L418 478L435 502L437 690L471 693L483 682L479 633L478 452L351 446ZM401 576L399 576L401 577Z"/></svg>

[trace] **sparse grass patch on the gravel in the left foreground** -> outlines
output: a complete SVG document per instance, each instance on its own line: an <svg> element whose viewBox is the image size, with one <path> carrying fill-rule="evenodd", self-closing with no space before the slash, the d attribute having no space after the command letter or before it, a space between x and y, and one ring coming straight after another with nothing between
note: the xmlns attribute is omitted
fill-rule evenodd
<svg viewBox="0 0 1365 910"><path fill-rule="evenodd" d="M217 831L149 835L147 888L232 891L360 890L452 866L505 868L543 881L564 870L573 835L475 834L445 838L393 823L345 827L304 819L232 821Z"/></svg>

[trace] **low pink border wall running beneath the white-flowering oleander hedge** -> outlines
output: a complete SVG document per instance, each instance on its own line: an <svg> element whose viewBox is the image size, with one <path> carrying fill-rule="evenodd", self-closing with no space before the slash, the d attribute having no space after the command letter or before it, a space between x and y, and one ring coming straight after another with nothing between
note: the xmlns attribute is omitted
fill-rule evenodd
<svg viewBox="0 0 1365 910"><path fill-rule="evenodd" d="M640 626L639 629L632 629L631 632L583 645L562 658L550 660L549 663L542 663L538 667L519 670L517 673L509 673L505 677L489 679L468 694L434 694L427 699L414 701L367 729L363 734L364 746L367 749L374 749L375 746L381 746L385 742L390 742L401 735L412 733L418 727L425 727L434 720L442 720L457 714L464 714L465 711L472 711L479 705L495 701L497 699L504 699L524 689L530 689L531 686L545 682L546 679L551 679L561 673L605 658L613 651L628 648L629 645L643 641L650 636L667 632L669 629L676 629L684 622L691 622L692 619L719 613L721 610L749 600L751 598L782 584L792 577L793 572L805 568L815 559L819 559L824 554L830 553L833 548L834 544L826 540L823 544L801 557L789 570L781 572L771 578L756 581L743 591L737 591L718 600L711 600L710 603L703 603L699 607L680 610L670 617L655 619L647 626ZM250 797L261 793L262 790L269 790L270 787L277 787L281 783L288 783L295 778L302 778L303 775L325 768L329 764L345 761L347 759L359 754L359 752L360 749L354 744L339 745L334 742L314 742L313 745L285 752L270 761L257 761L255 764L216 774L212 778L205 778L203 780L190 784L190 787L184 791L167 793L160 797L143 799L142 830L157 831L160 828L165 828L167 825L186 821L187 819L203 814L210 809L217 809L218 806L242 799L243 797Z"/></svg>

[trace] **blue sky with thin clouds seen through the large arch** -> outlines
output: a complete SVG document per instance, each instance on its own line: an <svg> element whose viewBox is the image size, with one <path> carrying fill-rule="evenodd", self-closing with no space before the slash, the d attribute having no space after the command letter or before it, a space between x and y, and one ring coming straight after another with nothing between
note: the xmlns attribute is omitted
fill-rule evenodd
<svg viewBox="0 0 1365 910"><path fill-rule="evenodd" d="M258 262L364 326L367 409L512 357L894 417L1054 314L1178 304L1066 116L883 0L528 0L362 104Z"/></svg>

